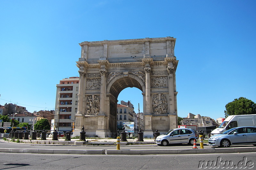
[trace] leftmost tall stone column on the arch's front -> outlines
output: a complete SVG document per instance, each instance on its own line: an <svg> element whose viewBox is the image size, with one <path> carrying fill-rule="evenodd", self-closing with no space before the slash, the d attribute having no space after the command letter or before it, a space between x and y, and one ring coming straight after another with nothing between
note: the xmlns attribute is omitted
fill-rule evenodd
<svg viewBox="0 0 256 170"><path fill-rule="evenodd" d="M78 104L77 104L77 113L76 115L83 115L83 96L84 96L84 77L86 72L84 70L79 70L79 91L78 91Z"/></svg>

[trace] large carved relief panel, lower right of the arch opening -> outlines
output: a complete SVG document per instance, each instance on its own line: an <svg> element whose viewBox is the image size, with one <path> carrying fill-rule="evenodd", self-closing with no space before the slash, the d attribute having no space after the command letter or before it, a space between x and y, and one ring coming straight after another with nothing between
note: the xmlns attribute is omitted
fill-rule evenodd
<svg viewBox="0 0 256 170"><path fill-rule="evenodd" d="M158 93L152 100L153 114L167 114L166 95Z"/></svg>

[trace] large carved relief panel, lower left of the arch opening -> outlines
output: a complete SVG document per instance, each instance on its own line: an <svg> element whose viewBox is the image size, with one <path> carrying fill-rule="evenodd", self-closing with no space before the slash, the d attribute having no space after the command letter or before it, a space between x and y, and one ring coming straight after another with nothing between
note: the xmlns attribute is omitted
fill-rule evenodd
<svg viewBox="0 0 256 170"><path fill-rule="evenodd" d="M85 115L98 115L100 112L100 97L92 94L87 96Z"/></svg>

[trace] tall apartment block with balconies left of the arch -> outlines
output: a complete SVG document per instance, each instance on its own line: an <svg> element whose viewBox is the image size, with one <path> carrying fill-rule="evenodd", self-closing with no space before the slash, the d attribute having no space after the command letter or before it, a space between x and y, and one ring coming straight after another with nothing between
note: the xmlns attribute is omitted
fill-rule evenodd
<svg viewBox="0 0 256 170"><path fill-rule="evenodd" d="M57 84L54 126L58 131L73 130L78 104L79 77L63 78ZM74 125L75 129L75 125Z"/></svg>

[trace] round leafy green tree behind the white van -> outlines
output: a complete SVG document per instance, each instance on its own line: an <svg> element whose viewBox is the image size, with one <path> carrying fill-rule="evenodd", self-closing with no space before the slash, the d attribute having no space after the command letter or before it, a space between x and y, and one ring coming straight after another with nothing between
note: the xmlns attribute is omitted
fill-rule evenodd
<svg viewBox="0 0 256 170"><path fill-rule="evenodd" d="M225 117L230 115L251 115L256 114L256 104L249 99L240 97L226 104Z"/></svg>

